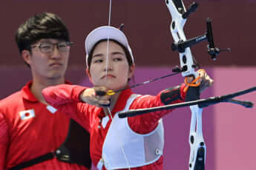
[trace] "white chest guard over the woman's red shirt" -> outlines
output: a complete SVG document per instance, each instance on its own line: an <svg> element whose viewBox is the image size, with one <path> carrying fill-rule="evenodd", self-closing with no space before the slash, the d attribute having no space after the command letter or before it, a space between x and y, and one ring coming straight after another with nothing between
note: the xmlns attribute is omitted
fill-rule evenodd
<svg viewBox="0 0 256 170"><path fill-rule="evenodd" d="M137 97L131 95L122 111L127 111ZM106 169L127 169L154 163L163 154L163 144L162 119L153 132L141 135L130 128L128 118L121 119L116 114L102 147L104 166Z"/></svg>

